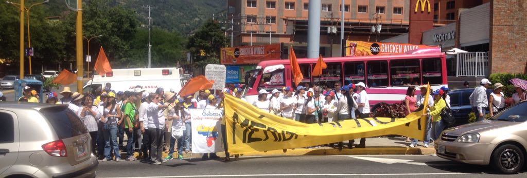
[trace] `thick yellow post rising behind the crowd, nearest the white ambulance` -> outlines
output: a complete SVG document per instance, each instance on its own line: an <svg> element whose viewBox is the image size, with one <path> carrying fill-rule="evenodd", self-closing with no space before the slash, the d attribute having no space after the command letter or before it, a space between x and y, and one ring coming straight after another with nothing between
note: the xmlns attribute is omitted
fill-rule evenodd
<svg viewBox="0 0 527 178"><path fill-rule="evenodd" d="M76 47L77 47L77 92L82 93L82 0L77 0L77 22L76 22Z"/></svg>

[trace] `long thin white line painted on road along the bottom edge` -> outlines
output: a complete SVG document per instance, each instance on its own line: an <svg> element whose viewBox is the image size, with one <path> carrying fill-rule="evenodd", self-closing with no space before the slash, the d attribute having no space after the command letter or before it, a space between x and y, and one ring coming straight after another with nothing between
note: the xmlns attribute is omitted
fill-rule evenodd
<svg viewBox="0 0 527 178"><path fill-rule="evenodd" d="M453 175L453 174L470 174L459 172L445 172L445 173L391 173L391 174L239 174L239 175L173 175L173 176L149 176L142 178L178 178L178 177L251 177L251 176L359 176L359 175ZM124 177L103 177L103 178L124 178ZM140 177L126 177L126 178L140 178Z"/></svg>

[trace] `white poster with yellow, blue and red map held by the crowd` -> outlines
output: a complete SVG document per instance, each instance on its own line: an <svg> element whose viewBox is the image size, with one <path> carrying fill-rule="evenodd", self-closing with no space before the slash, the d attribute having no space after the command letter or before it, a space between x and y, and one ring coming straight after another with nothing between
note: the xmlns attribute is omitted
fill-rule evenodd
<svg viewBox="0 0 527 178"><path fill-rule="evenodd" d="M224 151L220 109L191 109L192 153Z"/></svg>

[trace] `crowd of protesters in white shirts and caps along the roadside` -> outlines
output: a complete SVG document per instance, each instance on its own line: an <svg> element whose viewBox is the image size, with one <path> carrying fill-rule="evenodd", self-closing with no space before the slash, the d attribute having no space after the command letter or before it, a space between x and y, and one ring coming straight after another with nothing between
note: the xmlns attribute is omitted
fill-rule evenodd
<svg viewBox="0 0 527 178"><path fill-rule="evenodd" d="M480 86L476 87L470 96L470 103L476 114L476 121L483 120L485 110L490 111L493 116L496 112L505 108L505 96L503 95L501 83L495 83L493 92L487 98L486 89L491 87L488 79L483 79ZM259 90L258 100L251 103L253 106L268 111L276 116L303 122L324 123L339 120L368 118L370 107L368 93L365 84L342 86L339 81L334 87L319 86L317 83L306 83L299 85L296 90L291 87L275 89L270 93L267 90ZM441 111L450 108L450 96L448 88L442 87L430 91L430 100L424 103L427 85L409 86L404 98L406 114L414 112L424 106L428 107L424 116L427 117L426 135L423 146L440 138L440 134L447 126L441 118ZM416 95L416 90L420 93ZM231 85L213 95L209 90L197 92L196 95L175 97L173 91L164 91L158 88L149 93L136 86L134 91L115 92L111 89L111 83L106 83L104 90L101 88L93 93L72 92L69 87L64 87L59 94L49 92L46 103L67 104L68 108L76 113L85 124L92 139L92 151L102 161L121 161L120 150L126 152L127 161L135 161L138 158L144 163L162 164L168 160L177 158L184 159L183 153L191 151L191 122L190 109L221 109L223 93L235 96L243 101L242 85ZM2 97L2 96L0 96ZM514 103L527 98L527 92L516 87L516 93L512 96ZM30 87L24 87L23 97L18 101L38 102L40 97ZM124 134L126 134L126 145L123 146ZM417 145L417 139L407 138L409 147ZM176 146L177 144L177 146ZM340 143L328 144L336 149L343 149ZM359 144L354 145L354 140L349 140L347 148L365 148L366 139L360 139ZM318 147L318 145L314 145ZM312 146L307 148L312 149ZM174 152L177 149L177 156ZM162 158L162 152L168 156ZM139 156L135 157L134 153ZM228 160L228 154L226 160ZM235 155L237 158L238 155ZM202 159L218 159L216 153L203 154Z"/></svg>

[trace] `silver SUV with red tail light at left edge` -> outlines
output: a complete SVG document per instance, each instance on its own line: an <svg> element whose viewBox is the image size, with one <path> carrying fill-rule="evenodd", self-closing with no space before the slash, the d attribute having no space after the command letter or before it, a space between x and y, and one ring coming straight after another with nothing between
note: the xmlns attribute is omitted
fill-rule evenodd
<svg viewBox="0 0 527 178"><path fill-rule="evenodd" d="M0 102L0 177L95 177L91 148L67 106Z"/></svg>

